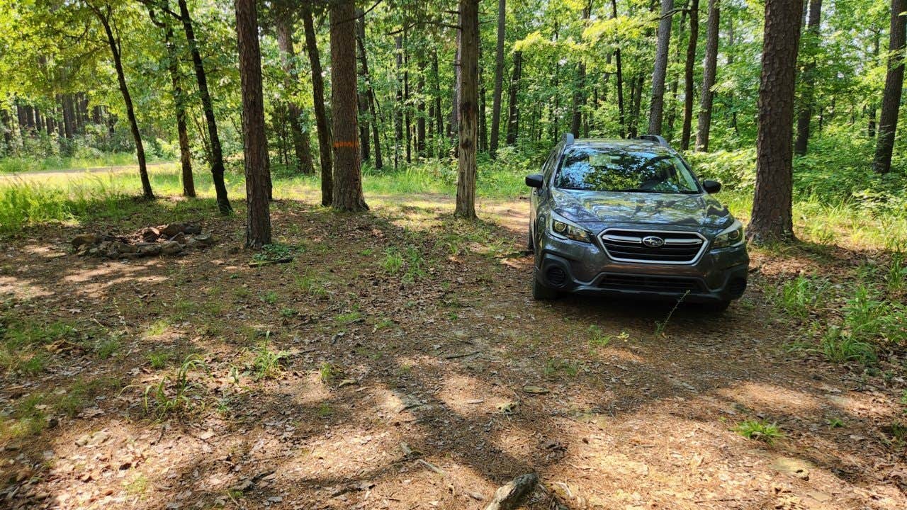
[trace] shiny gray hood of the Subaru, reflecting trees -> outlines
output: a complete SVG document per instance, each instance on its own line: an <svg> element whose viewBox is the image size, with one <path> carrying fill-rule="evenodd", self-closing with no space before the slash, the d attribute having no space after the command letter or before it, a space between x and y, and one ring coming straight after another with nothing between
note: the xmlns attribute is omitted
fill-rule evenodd
<svg viewBox="0 0 907 510"><path fill-rule="evenodd" d="M707 194L553 189L551 196L561 216L584 223L723 228L734 221L727 207Z"/></svg>

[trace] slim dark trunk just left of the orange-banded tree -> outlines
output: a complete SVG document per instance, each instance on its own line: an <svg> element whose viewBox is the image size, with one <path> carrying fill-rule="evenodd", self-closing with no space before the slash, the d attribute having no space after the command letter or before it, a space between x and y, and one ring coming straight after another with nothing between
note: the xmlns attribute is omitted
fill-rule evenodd
<svg viewBox="0 0 907 510"><path fill-rule="evenodd" d="M351 16L352 17L352 16ZM312 19L312 5L302 2L302 22L306 29L306 48L312 69L312 96L315 105L315 123L318 131L318 154L321 164L321 205L328 206L334 200L334 166L331 163L331 132L325 112L325 82L321 76L321 58L318 55L318 40L315 22ZM350 27L351 29L353 27ZM356 34L352 31L351 34ZM355 43L355 41L354 41ZM355 48L354 48L355 53ZM355 64L355 63L354 63ZM356 71L356 68L353 69ZM354 83L356 80L354 79Z"/></svg>

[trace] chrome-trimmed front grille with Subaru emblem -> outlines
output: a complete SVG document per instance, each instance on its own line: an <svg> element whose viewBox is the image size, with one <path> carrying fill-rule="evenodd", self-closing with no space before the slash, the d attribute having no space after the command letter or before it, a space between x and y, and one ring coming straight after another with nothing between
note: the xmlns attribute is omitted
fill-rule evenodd
<svg viewBox="0 0 907 510"><path fill-rule="evenodd" d="M611 229L602 232L600 239L611 259L650 264L695 263L707 244L696 232Z"/></svg>

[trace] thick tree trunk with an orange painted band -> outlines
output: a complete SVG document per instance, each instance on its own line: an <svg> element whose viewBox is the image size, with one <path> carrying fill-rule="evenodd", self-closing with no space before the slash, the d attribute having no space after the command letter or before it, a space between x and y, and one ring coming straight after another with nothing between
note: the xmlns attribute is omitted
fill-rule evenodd
<svg viewBox="0 0 907 510"><path fill-rule="evenodd" d="M331 110L334 113L334 209L366 211L356 119L356 1L330 6Z"/></svg>

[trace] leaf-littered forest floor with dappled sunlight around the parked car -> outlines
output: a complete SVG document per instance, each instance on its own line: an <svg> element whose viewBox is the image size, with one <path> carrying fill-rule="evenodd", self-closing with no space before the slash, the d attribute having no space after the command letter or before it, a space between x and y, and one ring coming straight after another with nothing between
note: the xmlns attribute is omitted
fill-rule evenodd
<svg viewBox="0 0 907 510"><path fill-rule="evenodd" d="M9 240L0 329L28 357L0 378L0 506L483 508L536 472L529 508L907 507L903 367L790 351L805 334L765 294L804 268L848 285L875 254L754 250L725 316L659 327L673 303L534 302L526 201L471 225L448 197L366 198L276 201L294 260L261 267L244 211L210 201ZM219 241L68 247L171 221Z"/></svg>

